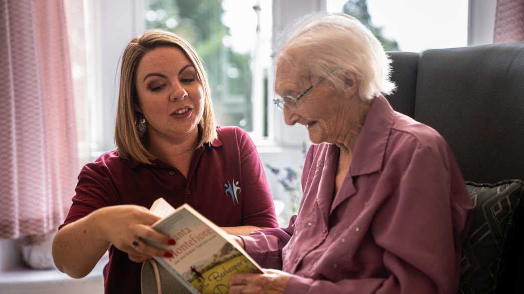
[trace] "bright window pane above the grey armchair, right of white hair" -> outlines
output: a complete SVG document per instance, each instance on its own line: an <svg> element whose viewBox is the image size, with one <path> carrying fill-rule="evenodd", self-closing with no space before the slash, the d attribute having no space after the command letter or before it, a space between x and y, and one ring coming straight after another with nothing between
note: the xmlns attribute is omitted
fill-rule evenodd
<svg viewBox="0 0 524 294"><path fill-rule="evenodd" d="M466 0L327 0L326 8L361 20L386 50L420 52L467 46Z"/></svg>

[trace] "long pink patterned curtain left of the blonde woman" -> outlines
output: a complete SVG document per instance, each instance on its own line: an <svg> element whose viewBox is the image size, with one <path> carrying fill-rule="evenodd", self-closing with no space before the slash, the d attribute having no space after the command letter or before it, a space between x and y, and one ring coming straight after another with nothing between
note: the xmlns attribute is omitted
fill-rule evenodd
<svg viewBox="0 0 524 294"><path fill-rule="evenodd" d="M57 229L78 173L63 0L0 0L0 239Z"/></svg>

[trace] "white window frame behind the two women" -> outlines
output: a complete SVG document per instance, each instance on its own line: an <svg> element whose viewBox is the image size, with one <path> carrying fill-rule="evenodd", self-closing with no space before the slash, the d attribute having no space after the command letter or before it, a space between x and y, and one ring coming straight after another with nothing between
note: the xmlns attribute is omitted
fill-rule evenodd
<svg viewBox="0 0 524 294"><path fill-rule="evenodd" d="M114 123L117 105L118 92L118 63L122 49L130 38L137 35L145 29L145 9L147 0L113 0L102 1L94 0L94 6L97 7L98 26L104 28L100 30L100 35L95 36L100 44L100 70L101 82L100 91L103 99L99 99L100 121L102 121L101 142L99 150L95 150L93 155L96 156L104 151L114 149ZM496 0L468 0L470 8L468 9L468 46L493 42L492 35ZM316 11L326 10L326 0L273 0L273 29L272 36L279 36L282 30L287 27L293 19L305 14ZM486 21L487 20L487 21ZM493 22L493 24L486 24ZM95 24L96 25L96 24ZM490 29L491 28L491 29ZM268 136L264 137L262 133L264 117L263 115L253 115L253 118L259 118L260 122L254 123L254 129L258 132L249 134L260 147L261 151L269 150L273 152L275 148L301 148L302 142L309 142L307 131L300 126L289 127L285 125L280 111L275 111L272 107L274 98L274 66L268 71ZM253 107L253 110L260 111L259 107ZM255 126L259 126L255 128Z"/></svg>

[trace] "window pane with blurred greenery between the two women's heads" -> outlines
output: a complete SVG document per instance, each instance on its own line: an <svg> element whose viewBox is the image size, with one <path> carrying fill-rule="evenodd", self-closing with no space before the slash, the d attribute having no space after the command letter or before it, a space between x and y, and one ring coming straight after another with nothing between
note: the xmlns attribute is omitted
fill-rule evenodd
<svg viewBox="0 0 524 294"><path fill-rule="evenodd" d="M268 135L271 0L148 0L145 21L147 29L177 33L196 49L219 125Z"/></svg>

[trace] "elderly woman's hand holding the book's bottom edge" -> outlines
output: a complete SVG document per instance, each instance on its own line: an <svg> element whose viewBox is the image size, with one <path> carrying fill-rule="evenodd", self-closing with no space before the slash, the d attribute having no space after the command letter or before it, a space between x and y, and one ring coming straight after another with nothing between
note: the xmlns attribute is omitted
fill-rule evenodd
<svg viewBox="0 0 524 294"><path fill-rule="evenodd" d="M276 269L265 269L265 272L265 274L235 274L230 280L230 294L283 293L291 275Z"/></svg>

